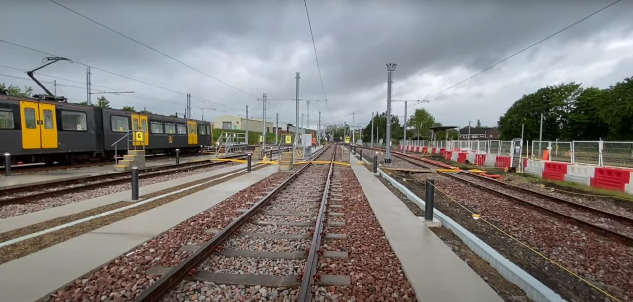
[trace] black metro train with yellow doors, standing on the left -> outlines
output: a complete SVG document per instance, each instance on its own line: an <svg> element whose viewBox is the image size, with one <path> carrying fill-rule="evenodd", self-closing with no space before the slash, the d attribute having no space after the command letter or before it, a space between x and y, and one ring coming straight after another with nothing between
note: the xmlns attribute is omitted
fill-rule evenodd
<svg viewBox="0 0 633 302"><path fill-rule="evenodd" d="M144 132L144 142L121 139L130 130ZM211 145L211 123L0 94L0 155L11 153L13 164L103 160L134 145L196 153Z"/></svg>

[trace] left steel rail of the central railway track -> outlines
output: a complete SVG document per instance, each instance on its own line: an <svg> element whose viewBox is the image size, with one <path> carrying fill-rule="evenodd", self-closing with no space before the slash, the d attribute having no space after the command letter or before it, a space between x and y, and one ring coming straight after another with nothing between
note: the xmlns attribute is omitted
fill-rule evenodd
<svg viewBox="0 0 633 302"><path fill-rule="evenodd" d="M320 154L323 154L328 148L323 148L320 153L315 154L315 158ZM270 199L272 199L277 193L282 191L292 180L294 180L299 174L303 173L307 167L310 165L304 165L297 172L293 173L291 177L286 179L282 184L275 187L273 191L266 194L260 201L253 204L248 211L242 213L239 217L235 218L227 227L220 230L215 236L213 236L210 241L204 243L201 248L197 249L194 253L192 253L189 257L183 260L179 265L170 270L167 274L163 275L161 279L158 279L154 284L148 287L145 291L141 293L136 299L135 302L141 301L160 301L164 294L168 293L173 286L177 286L187 278L189 275L195 274L195 268L199 267L203 263L204 260L209 258L213 252L216 251L222 242L226 241L233 235L233 233L239 229L244 223L248 222L248 220L255 215L257 211L260 210L263 206L265 206Z"/></svg>

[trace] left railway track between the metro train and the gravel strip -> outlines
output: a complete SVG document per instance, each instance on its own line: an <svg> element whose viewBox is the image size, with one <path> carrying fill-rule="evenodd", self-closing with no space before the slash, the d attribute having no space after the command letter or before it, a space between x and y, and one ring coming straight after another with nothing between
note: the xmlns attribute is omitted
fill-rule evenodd
<svg viewBox="0 0 633 302"><path fill-rule="evenodd" d="M246 155L226 156L224 158L246 158ZM176 165L144 168L139 173L139 179L149 179L182 170L196 170L222 165L224 161L192 161ZM86 191L103 186L125 184L130 182L130 172L116 172L104 175L82 177L78 179L47 182L34 186L11 187L0 189L0 205L14 203L28 203L44 198L61 196L70 192Z"/></svg>

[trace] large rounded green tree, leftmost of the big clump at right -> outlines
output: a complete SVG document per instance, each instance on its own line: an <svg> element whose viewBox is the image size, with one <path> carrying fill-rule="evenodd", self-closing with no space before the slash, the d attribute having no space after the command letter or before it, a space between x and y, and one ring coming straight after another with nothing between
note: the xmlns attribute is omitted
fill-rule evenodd
<svg viewBox="0 0 633 302"><path fill-rule="evenodd" d="M582 92L574 82L541 88L515 101L499 118L501 139L521 137L521 125L525 124L523 138L539 139L539 121L543 114L543 140L565 138L567 122L576 98Z"/></svg>

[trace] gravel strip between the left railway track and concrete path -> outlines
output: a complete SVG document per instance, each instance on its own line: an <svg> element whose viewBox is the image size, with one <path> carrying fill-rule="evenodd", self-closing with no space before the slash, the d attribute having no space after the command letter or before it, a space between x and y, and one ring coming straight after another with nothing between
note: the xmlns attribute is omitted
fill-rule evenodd
<svg viewBox="0 0 633 302"><path fill-rule="evenodd" d="M168 180L179 179L199 173L210 172L218 168L228 167L229 165L235 165L233 162L222 163L221 165L213 165L206 168L199 168L194 170L185 170L182 172L175 172L169 175L160 175L157 177L151 177L149 179L141 179L141 186L149 186L151 184L158 184L159 182L166 182ZM0 204L0 219L14 217L17 215L23 215L34 211L40 211L47 208L54 208L56 206L63 206L64 204L76 203L77 201L84 201L99 196L113 194L116 192L127 191L130 189L130 184L116 184L111 186L99 187L82 192L73 192L65 194L63 196L56 196L51 198L44 198L40 201L33 203L22 204ZM31 194L31 192L28 192Z"/></svg>

